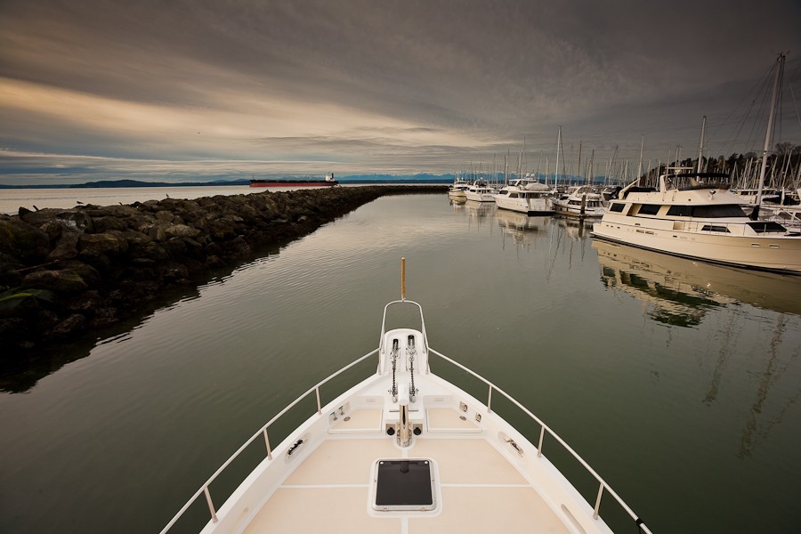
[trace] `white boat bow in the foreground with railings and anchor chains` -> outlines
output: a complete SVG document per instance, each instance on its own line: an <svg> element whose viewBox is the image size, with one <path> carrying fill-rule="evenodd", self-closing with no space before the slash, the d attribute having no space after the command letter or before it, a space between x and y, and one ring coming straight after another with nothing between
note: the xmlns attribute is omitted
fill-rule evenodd
<svg viewBox="0 0 801 534"><path fill-rule="evenodd" d="M401 261L401 273L402 265ZM403 317L411 317L413 324L389 328L399 312L411 312ZM321 394L344 383L344 372L366 366L370 376L334 392L332 401L320 401ZM457 376L472 376L486 395L483 401L434 374L433 368L443 367ZM288 412L298 416L302 406L311 408L312 399L317 406L311 416L271 447L279 417ZM533 430L514 428L498 415L498 404L518 410L514 415L522 427ZM255 469L243 475L230 496L216 495L221 473L229 476L226 468L245 449L253 453L254 448L263 458ZM582 496L548 460L549 450L571 457L578 462L571 467L583 470L586 481L595 481L589 495ZM623 525L626 531L651 532L538 417L495 384L429 346L422 308L405 299L402 281L401 300L384 307L378 348L273 417L206 481L162 534L176 523L185 527L182 516L198 506L208 509L202 527L206 534L608 534L612 530L604 514L621 517L621 510L622 517L630 517Z"/></svg>

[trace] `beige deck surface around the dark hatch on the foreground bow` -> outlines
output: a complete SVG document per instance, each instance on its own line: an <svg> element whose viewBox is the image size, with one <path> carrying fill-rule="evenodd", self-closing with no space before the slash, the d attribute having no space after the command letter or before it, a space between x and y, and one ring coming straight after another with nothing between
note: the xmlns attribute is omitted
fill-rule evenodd
<svg viewBox="0 0 801 534"><path fill-rule="evenodd" d="M537 490L460 415L430 409L431 432L401 449L394 438L376 433L381 410L354 411L287 477L245 532L569 532ZM437 466L437 511L373 511L373 464L412 457L431 458Z"/></svg>

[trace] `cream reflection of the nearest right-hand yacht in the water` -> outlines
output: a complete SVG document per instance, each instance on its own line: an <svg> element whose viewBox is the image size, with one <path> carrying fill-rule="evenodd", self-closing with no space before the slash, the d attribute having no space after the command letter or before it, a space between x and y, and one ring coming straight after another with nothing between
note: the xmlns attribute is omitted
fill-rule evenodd
<svg viewBox="0 0 801 534"><path fill-rule="evenodd" d="M593 239L603 284L649 305L653 320L698 325L707 310L746 303L801 315L801 285L789 275L695 262Z"/></svg>

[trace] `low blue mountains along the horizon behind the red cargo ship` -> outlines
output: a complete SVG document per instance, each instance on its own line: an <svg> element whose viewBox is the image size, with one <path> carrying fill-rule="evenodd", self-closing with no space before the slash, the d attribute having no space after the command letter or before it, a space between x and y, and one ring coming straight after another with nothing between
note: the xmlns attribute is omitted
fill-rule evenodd
<svg viewBox="0 0 801 534"><path fill-rule="evenodd" d="M292 180L296 176L287 176ZM340 183L449 183L453 182L452 174L355 174L336 179ZM82 188L115 188L115 187L209 187L217 185L250 185L250 180L215 180L214 182L143 182L141 180L101 180L72 184L36 184L36 185L3 185L0 189L82 189Z"/></svg>

